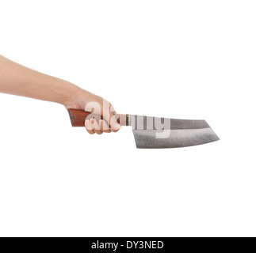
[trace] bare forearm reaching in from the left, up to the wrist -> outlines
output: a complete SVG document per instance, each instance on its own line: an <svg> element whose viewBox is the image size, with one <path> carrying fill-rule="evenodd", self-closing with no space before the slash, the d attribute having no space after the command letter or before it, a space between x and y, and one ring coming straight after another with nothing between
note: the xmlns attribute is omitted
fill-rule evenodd
<svg viewBox="0 0 256 253"><path fill-rule="evenodd" d="M86 91L68 81L30 70L0 55L0 93L28 96L72 107ZM90 96L90 93L88 93Z"/></svg>

